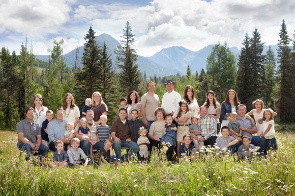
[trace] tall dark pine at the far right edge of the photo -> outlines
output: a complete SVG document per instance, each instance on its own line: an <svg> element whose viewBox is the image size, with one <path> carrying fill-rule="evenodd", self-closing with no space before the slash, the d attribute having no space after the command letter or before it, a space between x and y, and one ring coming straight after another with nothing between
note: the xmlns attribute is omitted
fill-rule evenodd
<svg viewBox="0 0 295 196"><path fill-rule="evenodd" d="M282 122L294 122L294 107L293 102L294 98L291 96L294 83L292 83L294 75L292 75L291 71L291 49L289 48L289 44L291 39L288 36L287 27L285 24L285 20L283 20L280 30L280 39L278 40L278 63L279 70L278 73L280 75L280 102L279 102L279 117Z"/></svg>

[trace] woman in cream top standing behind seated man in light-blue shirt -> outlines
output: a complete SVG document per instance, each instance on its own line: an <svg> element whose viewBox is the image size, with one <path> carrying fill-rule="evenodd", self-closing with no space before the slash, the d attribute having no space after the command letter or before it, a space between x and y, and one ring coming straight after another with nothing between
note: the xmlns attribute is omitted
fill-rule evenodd
<svg viewBox="0 0 295 196"><path fill-rule="evenodd" d="M74 128L79 123L80 110L77 105L75 105L75 99L73 95L67 93L64 95L62 103L64 119L68 122L74 123Z"/></svg>

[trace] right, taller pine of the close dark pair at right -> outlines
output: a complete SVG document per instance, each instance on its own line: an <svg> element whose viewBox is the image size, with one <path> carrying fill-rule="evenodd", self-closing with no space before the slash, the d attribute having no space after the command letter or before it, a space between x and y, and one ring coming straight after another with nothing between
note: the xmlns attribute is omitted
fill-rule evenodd
<svg viewBox="0 0 295 196"><path fill-rule="evenodd" d="M261 36L257 28L252 32L252 38L250 39L251 49L251 89L252 92L248 94L248 97L253 101L262 97L262 92L265 87L265 69L263 63L265 61L265 55L263 52L263 45L261 43ZM249 73L248 73L249 74Z"/></svg>

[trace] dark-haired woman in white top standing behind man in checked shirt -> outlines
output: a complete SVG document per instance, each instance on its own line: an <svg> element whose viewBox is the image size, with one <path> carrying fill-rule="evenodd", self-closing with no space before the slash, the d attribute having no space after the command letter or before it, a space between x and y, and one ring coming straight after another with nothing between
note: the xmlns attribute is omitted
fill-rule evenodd
<svg viewBox="0 0 295 196"><path fill-rule="evenodd" d="M220 128L220 103L216 101L215 93L214 91L208 91L206 96L206 101L203 104L205 107L207 107L207 114L216 120L217 123L217 134L219 133Z"/></svg>

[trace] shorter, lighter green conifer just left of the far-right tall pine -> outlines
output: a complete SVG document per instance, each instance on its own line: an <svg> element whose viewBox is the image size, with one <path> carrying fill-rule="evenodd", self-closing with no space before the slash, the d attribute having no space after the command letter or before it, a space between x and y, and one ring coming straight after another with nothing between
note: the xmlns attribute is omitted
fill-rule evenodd
<svg viewBox="0 0 295 196"><path fill-rule="evenodd" d="M265 88L262 91L262 97L264 98L265 107L274 108L274 87L276 83L276 78L274 75L275 71L275 55L272 49L268 48L266 52L266 61L265 61L265 80L263 81L265 84Z"/></svg>

